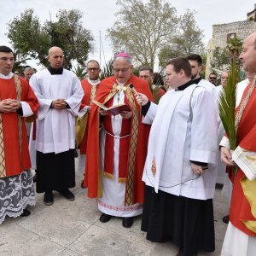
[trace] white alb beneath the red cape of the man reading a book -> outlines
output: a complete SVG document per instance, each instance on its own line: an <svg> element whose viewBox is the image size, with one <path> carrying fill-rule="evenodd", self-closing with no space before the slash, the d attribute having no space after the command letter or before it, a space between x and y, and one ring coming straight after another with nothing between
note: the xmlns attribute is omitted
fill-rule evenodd
<svg viewBox="0 0 256 256"><path fill-rule="evenodd" d="M125 84L119 84L123 87ZM119 96L113 96L113 105L125 102L125 93L120 90ZM119 141L122 129L122 116L111 116L112 130L114 136L113 143L113 179L104 177L102 173L102 198L98 199L98 209L111 216L134 217L143 213L143 206L136 203L132 206L125 206L125 183L119 183ZM101 165L104 170L106 131L102 129L100 134Z"/></svg>

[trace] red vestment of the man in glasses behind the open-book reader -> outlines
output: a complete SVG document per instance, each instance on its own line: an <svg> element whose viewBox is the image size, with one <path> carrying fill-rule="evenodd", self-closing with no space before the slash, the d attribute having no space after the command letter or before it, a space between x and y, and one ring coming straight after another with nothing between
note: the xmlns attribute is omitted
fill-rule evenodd
<svg viewBox="0 0 256 256"><path fill-rule="evenodd" d="M89 84L87 79L82 80L81 84L82 84L82 88L84 90L84 97L81 102L81 108L84 108L85 106L90 106L91 84ZM99 84L96 85L96 90L98 90L98 86L99 86ZM90 119L90 113L88 113L88 120L89 119ZM86 154L87 137L88 137L88 126L86 127L86 130L84 132L84 137L79 146L80 154Z"/></svg>

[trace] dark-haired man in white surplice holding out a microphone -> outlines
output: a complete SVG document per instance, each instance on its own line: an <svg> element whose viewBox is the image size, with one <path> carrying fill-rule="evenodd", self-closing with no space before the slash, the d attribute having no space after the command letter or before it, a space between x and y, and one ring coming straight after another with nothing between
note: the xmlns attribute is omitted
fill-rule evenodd
<svg viewBox="0 0 256 256"><path fill-rule="evenodd" d="M142 94L143 123L152 124L143 171L142 230L150 241L172 241L181 255L212 252L218 150L217 106L211 90L191 80L185 58L166 65L167 91L157 107Z"/></svg>

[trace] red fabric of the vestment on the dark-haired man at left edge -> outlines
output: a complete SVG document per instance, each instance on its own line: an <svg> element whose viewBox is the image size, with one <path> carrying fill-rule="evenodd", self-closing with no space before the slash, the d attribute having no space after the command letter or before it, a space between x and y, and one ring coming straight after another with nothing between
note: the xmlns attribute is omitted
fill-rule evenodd
<svg viewBox="0 0 256 256"><path fill-rule="evenodd" d="M27 102L32 108L33 113L37 115L39 103L34 95L31 87L26 79L20 78L22 86L21 101ZM0 99L17 99L14 79L0 79ZM29 169L31 162L28 152L28 144L26 137L25 121L22 119L22 163L20 162L20 145L19 145L19 129L18 129L18 114L1 113L3 120L3 143L5 153L5 167L7 177L19 175L20 172ZM22 167L21 167L22 166Z"/></svg>

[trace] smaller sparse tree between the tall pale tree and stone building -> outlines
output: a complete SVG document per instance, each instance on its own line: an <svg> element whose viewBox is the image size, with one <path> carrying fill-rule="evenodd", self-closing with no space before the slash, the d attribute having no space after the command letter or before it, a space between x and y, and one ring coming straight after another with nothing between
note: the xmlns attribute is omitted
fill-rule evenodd
<svg viewBox="0 0 256 256"><path fill-rule="evenodd" d="M177 56L187 56L191 53L201 54L203 31L196 25L195 11L187 9L186 13L178 18L177 33L172 37L170 44L160 49L160 66Z"/></svg>

